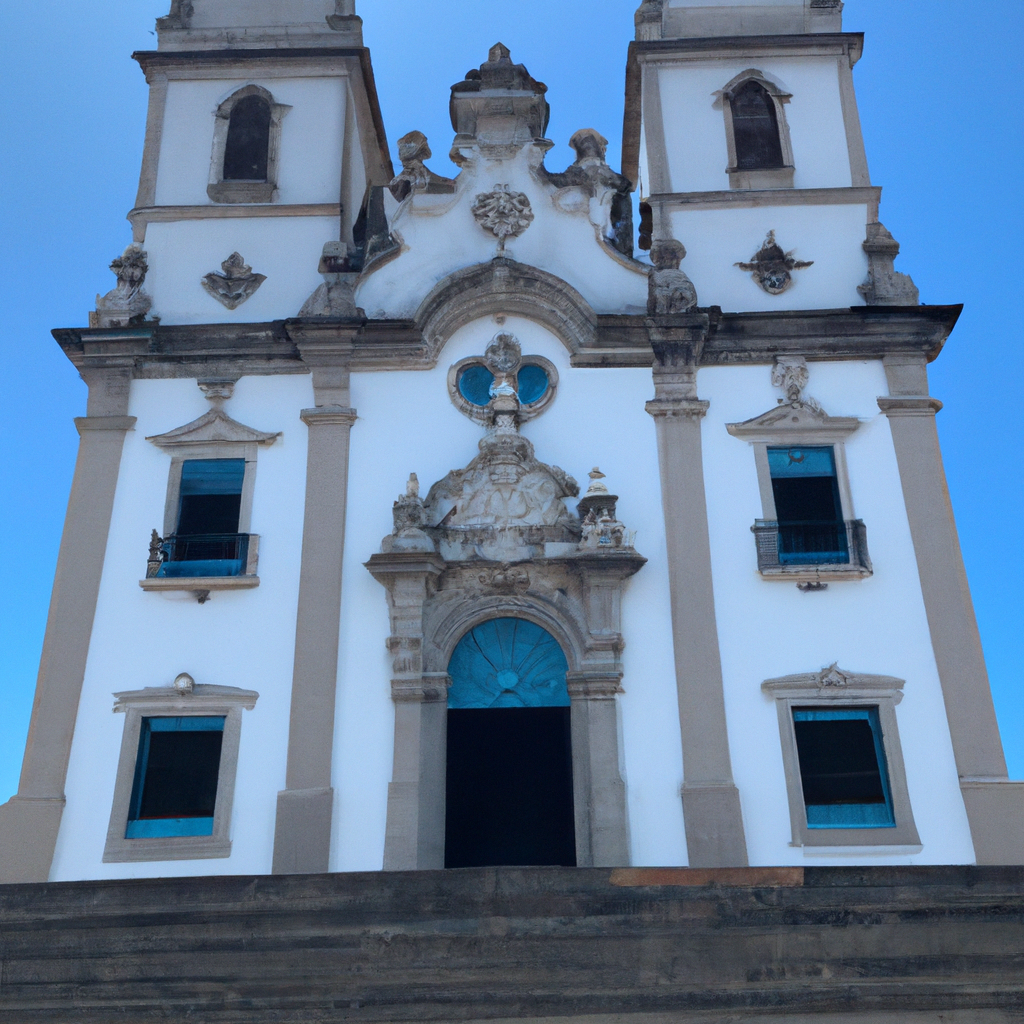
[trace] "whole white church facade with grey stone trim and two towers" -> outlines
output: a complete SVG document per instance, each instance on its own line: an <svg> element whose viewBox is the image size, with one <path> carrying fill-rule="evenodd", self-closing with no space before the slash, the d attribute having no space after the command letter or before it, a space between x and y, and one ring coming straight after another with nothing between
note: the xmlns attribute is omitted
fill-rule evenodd
<svg viewBox="0 0 1024 1024"><path fill-rule="evenodd" d="M645 0L621 171L497 44L447 178L174 0L0 882L1024 863L842 7Z"/></svg>

